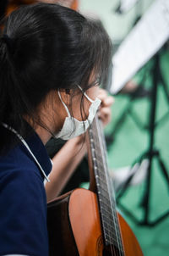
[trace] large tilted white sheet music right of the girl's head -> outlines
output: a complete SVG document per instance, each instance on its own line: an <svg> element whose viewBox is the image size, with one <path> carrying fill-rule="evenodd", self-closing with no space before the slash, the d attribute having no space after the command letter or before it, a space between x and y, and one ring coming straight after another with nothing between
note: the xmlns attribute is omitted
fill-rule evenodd
<svg viewBox="0 0 169 256"><path fill-rule="evenodd" d="M116 94L169 38L169 0L156 0L112 57L112 94Z"/></svg>

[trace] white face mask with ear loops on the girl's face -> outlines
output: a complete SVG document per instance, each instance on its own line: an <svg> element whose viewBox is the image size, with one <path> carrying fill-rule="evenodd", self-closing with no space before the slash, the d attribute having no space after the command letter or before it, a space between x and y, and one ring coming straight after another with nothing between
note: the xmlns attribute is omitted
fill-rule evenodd
<svg viewBox="0 0 169 256"><path fill-rule="evenodd" d="M79 89L83 92L82 88L78 86ZM84 92L85 97L90 101L90 109L89 109L89 116L88 119L85 121L79 121L75 119L73 116L71 116L68 107L65 103L63 103L63 99L60 95L60 92L58 91L58 96L60 97L61 102L63 103L64 108L66 109L68 113L68 117L65 118L63 128L61 131L57 133L55 136L56 138L61 138L63 140L72 139L75 136L79 136L80 134L87 131L89 125L92 123L95 114L97 112L97 109L101 105L101 100L99 98L95 98L95 101L93 101L87 94Z"/></svg>

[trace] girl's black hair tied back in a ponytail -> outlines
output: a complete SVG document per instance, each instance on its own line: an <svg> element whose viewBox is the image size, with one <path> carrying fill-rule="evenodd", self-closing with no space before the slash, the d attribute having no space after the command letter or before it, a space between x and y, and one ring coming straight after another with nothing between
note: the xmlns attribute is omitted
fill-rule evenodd
<svg viewBox="0 0 169 256"><path fill-rule="evenodd" d="M70 8L38 3L15 10L0 39L0 122L17 127L22 136L25 114L43 125L35 110L47 93L77 84L85 91L106 81L111 48L98 21Z"/></svg>

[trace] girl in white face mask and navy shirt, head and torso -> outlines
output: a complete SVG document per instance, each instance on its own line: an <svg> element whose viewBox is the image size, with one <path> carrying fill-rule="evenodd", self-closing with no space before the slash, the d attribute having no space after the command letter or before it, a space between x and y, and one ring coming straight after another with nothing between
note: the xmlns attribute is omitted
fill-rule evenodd
<svg viewBox="0 0 169 256"><path fill-rule="evenodd" d="M111 43L95 21L55 4L10 14L0 39L0 254L48 255L44 144L86 131Z"/></svg>

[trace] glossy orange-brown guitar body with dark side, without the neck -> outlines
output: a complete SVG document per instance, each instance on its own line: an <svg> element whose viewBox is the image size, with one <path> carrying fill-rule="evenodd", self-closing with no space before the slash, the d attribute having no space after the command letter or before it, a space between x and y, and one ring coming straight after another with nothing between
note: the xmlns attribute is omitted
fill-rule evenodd
<svg viewBox="0 0 169 256"><path fill-rule="evenodd" d="M83 188L68 192L48 203L47 214L50 256L120 255L117 248L104 247L94 192ZM143 255L133 231L120 214L118 220L125 256Z"/></svg>

